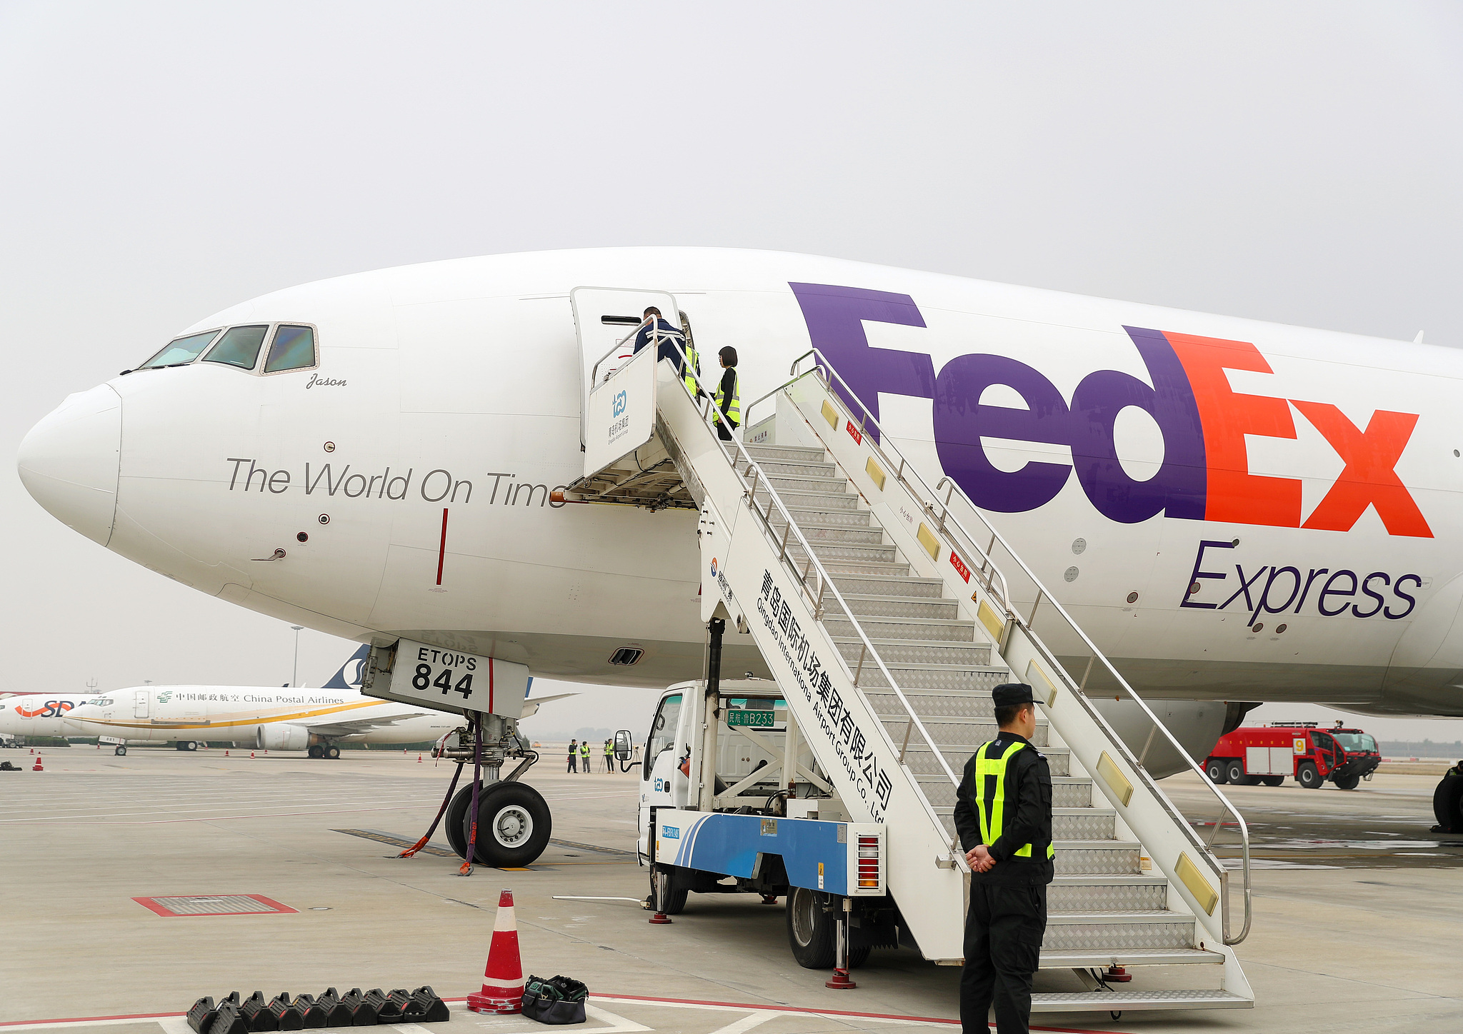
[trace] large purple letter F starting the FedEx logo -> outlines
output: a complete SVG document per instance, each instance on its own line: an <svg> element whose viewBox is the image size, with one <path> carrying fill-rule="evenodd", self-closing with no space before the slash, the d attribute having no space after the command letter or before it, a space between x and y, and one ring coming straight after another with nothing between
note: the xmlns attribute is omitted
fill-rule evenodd
<svg viewBox="0 0 1463 1034"><path fill-rule="evenodd" d="M828 357L838 376L857 396L840 390L854 415L862 414L860 402L879 418L879 392L890 395L935 396L935 364L923 352L901 352L894 348L872 348L863 332L863 322L925 326L919 306L907 294L869 291L860 287L831 287L828 284L789 284L802 306L808 336L813 348ZM866 429L878 440L878 430Z"/></svg>

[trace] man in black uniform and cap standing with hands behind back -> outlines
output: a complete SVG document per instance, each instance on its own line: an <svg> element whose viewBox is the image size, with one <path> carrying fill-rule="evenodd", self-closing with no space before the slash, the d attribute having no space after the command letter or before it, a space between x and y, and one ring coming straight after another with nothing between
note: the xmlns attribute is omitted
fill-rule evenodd
<svg viewBox="0 0 1463 1034"><path fill-rule="evenodd" d="M960 1024L966 1034L988 1031L993 1000L998 1034L1026 1034L1053 875L1052 769L1031 746L1031 687L1007 683L990 696L999 731L966 762L955 794L955 829L971 872Z"/></svg>

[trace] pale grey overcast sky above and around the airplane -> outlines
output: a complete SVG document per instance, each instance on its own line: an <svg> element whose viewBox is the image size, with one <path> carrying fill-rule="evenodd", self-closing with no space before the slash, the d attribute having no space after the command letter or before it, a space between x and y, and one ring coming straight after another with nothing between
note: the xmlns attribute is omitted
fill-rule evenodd
<svg viewBox="0 0 1463 1034"><path fill-rule="evenodd" d="M70 532L9 458L291 284L745 246L1460 345L1460 12L0 0L0 689L290 679L288 626ZM303 633L301 680L348 652ZM534 724L639 730L648 696Z"/></svg>

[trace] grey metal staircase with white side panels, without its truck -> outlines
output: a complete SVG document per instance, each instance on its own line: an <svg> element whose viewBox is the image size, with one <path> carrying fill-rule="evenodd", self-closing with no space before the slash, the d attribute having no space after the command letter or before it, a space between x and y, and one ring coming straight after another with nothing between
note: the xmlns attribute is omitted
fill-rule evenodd
<svg viewBox="0 0 1463 1034"><path fill-rule="evenodd" d="M1042 968L1072 970L1086 987L1039 993L1033 1009L1252 1005L1230 948L1249 929L1238 813L1206 780L1220 804L1214 832L1227 819L1245 845L1245 923L1230 936L1229 873L1083 692L1094 664L1105 686L1131 689L973 506L957 519L957 488L941 500L925 486L891 443L879 443L868 412L853 417L860 407L831 386L831 366L811 355L818 366L797 374L794 364L793 379L764 396L777 412L749 429L761 443L748 446L718 442L705 399L660 364L650 437L631 456L654 458L661 472L669 456L680 484L661 499L680 496L701 510L704 617L715 607L752 633L850 819L890 828L888 888L923 955L960 962L970 873L954 835L955 788L970 753L995 736L990 687L1014 677L1042 702L1033 741L1053 775L1056 882ZM594 396L616 390L622 376L644 389L641 361L591 393L591 443ZM597 490L604 455L587 462L572 488L579 497L613 499ZM1030 610L1021 601L1026 616L1009 569L1027 595L1034 591ZM1031 627L1043 604L1061 661ZM1083 663L1074 680L1068 665ZM1128 990L1141 978L1110 984L1094 973L1172 965L1201 968L1167 973L1160 990Z"/></svg>

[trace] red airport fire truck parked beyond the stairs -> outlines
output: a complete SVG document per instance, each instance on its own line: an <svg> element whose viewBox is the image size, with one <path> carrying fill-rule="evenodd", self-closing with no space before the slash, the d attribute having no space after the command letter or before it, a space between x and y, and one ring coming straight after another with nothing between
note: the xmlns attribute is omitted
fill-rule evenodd
<svg viewBox="0 0 1463 1034"><path fill-rule="evenodd" d="M1214 782L1279 787L1285 777L1306 790L1330 780L1342 790L1355 790L1381 763L1377 740L1359 728L1318 728L1314 721L1276 721L1236 728L1219 739L1204 762Z"/></svg>

